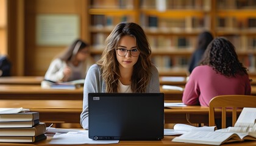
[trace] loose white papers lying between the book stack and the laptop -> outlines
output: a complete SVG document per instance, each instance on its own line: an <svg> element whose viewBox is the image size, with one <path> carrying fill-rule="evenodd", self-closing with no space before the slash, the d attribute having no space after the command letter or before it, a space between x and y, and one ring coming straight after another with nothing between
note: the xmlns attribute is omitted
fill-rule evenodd
<svg viewBox="0 0 256 146"><path fill-rule="evenodd" d="M49 144L118 144L116 141L94 141L88 137L88 130L79 132L56 133Z"/></svg>

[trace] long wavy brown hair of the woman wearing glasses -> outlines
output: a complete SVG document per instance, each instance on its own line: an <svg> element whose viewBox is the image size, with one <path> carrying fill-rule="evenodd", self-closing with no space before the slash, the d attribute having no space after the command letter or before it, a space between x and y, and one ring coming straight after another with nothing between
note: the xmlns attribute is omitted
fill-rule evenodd
<svg viewBox="0 0 256 146"><path fill-rule="evenodd" d="M117 24L105 41L105 50L97 64L101 68L102 79L106 83L106 92L118 91L118 79L121 77L121 74L115 51L119 40L126 35L135 37L137 48L140 50L138 61L133 66L131 78L132 92L146 92L146 86L151 79L151 48L144 30L135 23Z"/></svg>

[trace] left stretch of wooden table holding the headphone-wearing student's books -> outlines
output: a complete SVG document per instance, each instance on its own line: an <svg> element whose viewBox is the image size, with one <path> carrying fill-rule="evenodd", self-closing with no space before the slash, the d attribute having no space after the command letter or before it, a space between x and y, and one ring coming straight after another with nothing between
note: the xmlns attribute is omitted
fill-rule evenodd
<svg viewBox="0 0 256 146"><path fill-rule="evenodd" d="M40 85L0 85L0 99L83 100L83 88L74 90L42 89Z"/></svg>

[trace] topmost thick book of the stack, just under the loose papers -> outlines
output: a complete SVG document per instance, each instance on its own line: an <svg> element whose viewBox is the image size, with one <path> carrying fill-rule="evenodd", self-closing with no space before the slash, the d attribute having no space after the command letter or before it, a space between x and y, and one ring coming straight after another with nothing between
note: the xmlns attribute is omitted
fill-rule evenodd
<svg viewBox="0 0 256 146"><path fill-rule="evenodd" d="M12 114L0 114L0 121L27 121L27 120L38 120L38 112L24 112L24 113L12 113Z"/></svg>

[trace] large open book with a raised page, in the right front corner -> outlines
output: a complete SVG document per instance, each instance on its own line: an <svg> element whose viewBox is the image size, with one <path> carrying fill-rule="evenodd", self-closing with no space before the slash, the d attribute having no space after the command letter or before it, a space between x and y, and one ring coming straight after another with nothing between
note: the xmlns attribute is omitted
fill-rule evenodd
<svg viewBox="0 0 256 146"><path fill-rule="evenodd" d="M227 142L256 141L256 108L243 108L234 127L216 131L190 131L174 142L221 145Z"/></svg>

